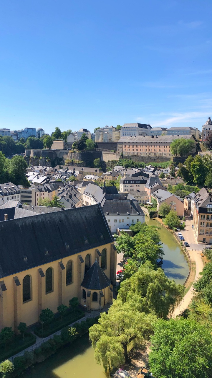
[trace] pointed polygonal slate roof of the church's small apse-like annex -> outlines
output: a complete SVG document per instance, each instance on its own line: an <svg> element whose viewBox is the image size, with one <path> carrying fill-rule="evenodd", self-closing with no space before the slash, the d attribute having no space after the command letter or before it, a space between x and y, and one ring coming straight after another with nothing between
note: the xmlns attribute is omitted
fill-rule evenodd
<svg viewBox="0 0 212 378"><path fill-rule="evenodd" d="M81 286L88 290L102 290L111 285L110 279L100 268L97 260L85 274Z"/></svg>

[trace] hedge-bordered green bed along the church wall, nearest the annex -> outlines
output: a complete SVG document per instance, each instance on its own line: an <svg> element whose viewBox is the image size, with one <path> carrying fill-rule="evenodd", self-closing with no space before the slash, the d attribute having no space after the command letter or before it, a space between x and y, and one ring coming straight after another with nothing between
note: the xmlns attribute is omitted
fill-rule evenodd
<svg viewBox="0 0 212 378"><path fill-rule="evenodd" d="M77 311L69 312L66 315L64 315L62 319L54 318L50 324L43 326L43 335L42 335L42 327L40 325L38 326L38 328L35 328L34 333L38 337L45 338L49 335L52 335L52 333L55 333L61 330L61 328L66 327L66 325L74 323L75 321L83 317L84 317L84 311L77 310Z"/></svg>

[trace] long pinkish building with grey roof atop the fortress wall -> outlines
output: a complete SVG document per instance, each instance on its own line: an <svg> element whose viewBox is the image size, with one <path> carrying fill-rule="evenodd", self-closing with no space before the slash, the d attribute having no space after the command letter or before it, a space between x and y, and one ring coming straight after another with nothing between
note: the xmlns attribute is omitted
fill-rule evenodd
<svg viewBox="0 0 212 378"><path fill-rule="evenodd" d="M190 139L192 135L123 136L118 141L117 153L125 156L166 156L171 157L170 144L174 139Z"/></svg>

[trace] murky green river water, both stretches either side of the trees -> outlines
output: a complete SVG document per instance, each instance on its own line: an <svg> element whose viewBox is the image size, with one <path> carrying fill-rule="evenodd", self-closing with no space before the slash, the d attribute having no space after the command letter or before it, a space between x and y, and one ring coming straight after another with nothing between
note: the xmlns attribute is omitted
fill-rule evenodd
<svg viewBox="0 0 212 378"><path fill-rule="evenodd" d="M157 225L146 217L149 225ZM160 226L160 225L159 225ZM189 273L189 266L178 243L163 226L160 229L163 243L163 269L169 279L183 283ZM102 366L95 363L94 350L88 334L77 339L74 344L59 350L55 355L38 364L24 378L107 378Z"/></svg>

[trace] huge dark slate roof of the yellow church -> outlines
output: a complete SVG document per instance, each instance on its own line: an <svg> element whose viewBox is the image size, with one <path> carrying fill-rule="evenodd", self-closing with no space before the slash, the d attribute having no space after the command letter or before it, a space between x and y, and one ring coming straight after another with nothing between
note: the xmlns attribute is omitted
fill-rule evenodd
<svg viewBox="0 0 212 378"><path fill-rule="evenodd" d="M99 204L0 222L0 278L111 242Z"/></svg>

